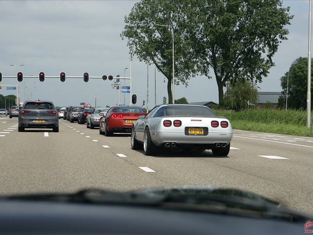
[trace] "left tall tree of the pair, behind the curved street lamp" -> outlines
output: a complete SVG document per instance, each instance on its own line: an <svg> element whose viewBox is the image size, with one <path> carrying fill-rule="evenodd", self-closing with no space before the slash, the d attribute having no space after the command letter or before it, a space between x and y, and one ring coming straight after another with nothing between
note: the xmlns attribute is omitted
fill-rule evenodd
<svg viewBox="0 0 313 235"><path fill-rule="evenodd" d="M195 1L143 0L134 5L125 17L125 30L122 39L127 38L131 54L140 61L153 63L167 78L168 102L172 103L172 29L174 34L174 77L188 85L187 81L195 75L191 41L186 40L186 18L195 9ZM155 24L171 26L156 26Z"/></svg>

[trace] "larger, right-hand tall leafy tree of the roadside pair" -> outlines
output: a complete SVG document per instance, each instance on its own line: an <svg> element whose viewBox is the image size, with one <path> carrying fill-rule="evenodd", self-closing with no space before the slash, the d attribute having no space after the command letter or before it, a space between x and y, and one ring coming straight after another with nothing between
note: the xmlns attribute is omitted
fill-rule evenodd
<svg viewBox="0 0 313 235"><path fill-rule="evenodd" d="M261 82L269 69L281 40L289 33L284 28L293 15L279 0L205 0L189 17L190 38L197 49L201 74L218 85L220 107L224 105L223 87L227 81Z"/></svg>

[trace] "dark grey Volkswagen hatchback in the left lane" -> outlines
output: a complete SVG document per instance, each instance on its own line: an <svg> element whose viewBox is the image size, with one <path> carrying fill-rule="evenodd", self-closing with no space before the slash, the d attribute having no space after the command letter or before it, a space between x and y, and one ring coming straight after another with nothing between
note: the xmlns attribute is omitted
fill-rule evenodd
<svg viewBox="0 0 313 235"><path fill-rule="evenodd" d="M52 128L59 132L59 115L51 101L28 100L18 115L18 131L25 128Z"/></svg>

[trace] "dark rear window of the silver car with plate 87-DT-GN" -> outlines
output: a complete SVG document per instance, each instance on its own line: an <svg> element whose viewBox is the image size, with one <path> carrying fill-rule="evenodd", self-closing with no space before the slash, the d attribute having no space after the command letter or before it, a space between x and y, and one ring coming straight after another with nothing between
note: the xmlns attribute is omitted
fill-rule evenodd
<svg viewBox="0 0 313 235"><path fill-rule="evenodd" d="M156 111L154 117L167 115L216 116L208 107L203 106L165 106Z"/></svg>

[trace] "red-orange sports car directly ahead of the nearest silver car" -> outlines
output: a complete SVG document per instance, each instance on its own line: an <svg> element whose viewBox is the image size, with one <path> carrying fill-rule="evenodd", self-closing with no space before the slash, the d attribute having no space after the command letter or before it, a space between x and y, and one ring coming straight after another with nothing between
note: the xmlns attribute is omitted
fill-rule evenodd
<svg viewBox="0 0 313 235"><path fill-rule="evenodd" d="M146 115L138 106L114 106L100 113L99 133L112 136L113 133L131 133L131 126L140 115Z"/></svg>

